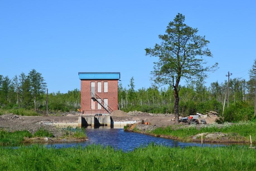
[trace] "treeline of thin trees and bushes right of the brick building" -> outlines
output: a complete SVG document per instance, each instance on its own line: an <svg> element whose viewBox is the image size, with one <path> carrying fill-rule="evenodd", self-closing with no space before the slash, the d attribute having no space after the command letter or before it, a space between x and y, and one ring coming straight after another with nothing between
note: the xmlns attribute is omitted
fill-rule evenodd
<svg viewBox="0 0 256 171"><path fill-rule="evenodd" d="M203 80L194 81L186 86L179 87L179 112L181 115L191 115L196 112L205 113L213 110L222 115L228 82L218 81L205 86ZM135 90L133 77L128 88L119 84L119 107L128 112L139 110L149 113L173 113L173 88L140 88ZM233 78L229 81L229 109L225 103L225 121L250 120L254 116L255 79L246 81L242 78ZM227 97L226 97L227 100Z"/></svg>

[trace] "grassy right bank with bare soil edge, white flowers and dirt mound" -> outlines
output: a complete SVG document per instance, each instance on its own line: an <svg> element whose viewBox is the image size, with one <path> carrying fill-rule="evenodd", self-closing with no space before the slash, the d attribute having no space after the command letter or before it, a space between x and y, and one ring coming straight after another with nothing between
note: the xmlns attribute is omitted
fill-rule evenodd
<svg viewBox="0 0 256 171"><path fill-rule="evenodd" d="M129 129L127 126L124 129ZM154 136L162 136L173 138L180 141L200 141L201 136L193 139L193 136L200 133L224 133L226 136L222 139L210 139L203 136L204 141L212 142L250 142L250 135L253 143L256 143L256 122L238 122L231 124L207 124L207 125L171 125L167 127L159 127L153 131L141 131L137 127L132 127L132 131L139 133L147 133Z"/></svg>

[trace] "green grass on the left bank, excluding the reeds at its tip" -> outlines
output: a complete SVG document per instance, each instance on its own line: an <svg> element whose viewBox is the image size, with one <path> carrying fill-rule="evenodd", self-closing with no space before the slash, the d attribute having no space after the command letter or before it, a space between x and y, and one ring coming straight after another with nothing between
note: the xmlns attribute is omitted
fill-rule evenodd
<svg viewBox="0 0 256 171"><path fill-rule="evenodd" d="M35 134L31 134L29 131L15 131L8 132L0 129L0 146L15 146L19 145L24 141L24 137L33 138L33 137L53 137L53 134L44 128L40 128L35 132Z"/></svg>

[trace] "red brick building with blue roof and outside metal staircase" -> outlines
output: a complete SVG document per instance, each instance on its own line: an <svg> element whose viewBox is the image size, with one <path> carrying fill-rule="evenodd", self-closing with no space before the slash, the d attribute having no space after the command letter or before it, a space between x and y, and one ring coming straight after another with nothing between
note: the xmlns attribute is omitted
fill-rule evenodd
<svg viewBox="0 0 256 171"><path fill-rule="evenodd" d="M118 110L118 80L120 73L82 73L82 114L107 114Z"/></svg>

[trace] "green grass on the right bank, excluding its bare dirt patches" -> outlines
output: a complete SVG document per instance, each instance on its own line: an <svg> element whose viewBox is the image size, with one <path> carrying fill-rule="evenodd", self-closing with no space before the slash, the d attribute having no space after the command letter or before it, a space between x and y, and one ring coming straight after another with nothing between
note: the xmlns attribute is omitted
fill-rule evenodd
<svg viewBox="0 0 256 171"><path fill-rule="evenodd" d="M218 127L217 124L209 124L201 126L199 129L195 126L168 126L168 127L160 127L149 133L155 135L166 135L171 137L176 137L178 139L190 140L191 136L200 133L215 133L222 132L227 133L229 136L233 138L233 140L241 141L241 140L250 140L250 135L252 136L252 141L256 143L256 122L238 122L235 124L224 123L221 127Z"/></svg>

